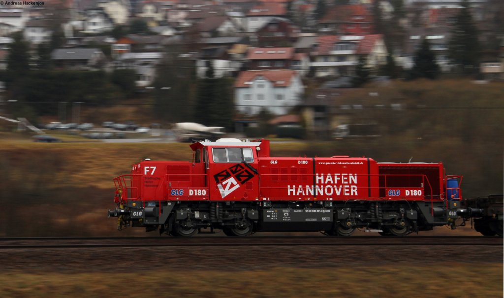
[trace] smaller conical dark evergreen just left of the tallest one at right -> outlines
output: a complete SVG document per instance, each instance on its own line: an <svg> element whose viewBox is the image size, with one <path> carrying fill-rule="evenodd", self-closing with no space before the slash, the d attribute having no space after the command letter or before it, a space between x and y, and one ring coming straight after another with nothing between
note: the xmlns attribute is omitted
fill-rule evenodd
<svg viewBox="0 0 504 298"><path fill-rule="evenodd" d="M415 52L414 65L411 68L410 79L429 78L435 79L439 74L434 52L430 49L429 41L424 38L421 47Z"/></svg>

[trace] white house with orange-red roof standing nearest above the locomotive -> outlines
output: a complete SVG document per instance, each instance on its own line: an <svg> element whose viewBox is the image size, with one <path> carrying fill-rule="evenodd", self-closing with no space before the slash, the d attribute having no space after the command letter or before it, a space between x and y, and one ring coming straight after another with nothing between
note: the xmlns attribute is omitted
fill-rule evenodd
<svg viewBox="0 0 504 298"><path fill-rule="evenodd" d="M274 115L288 114L301 104L304 92L295 70L242 71L234 87L236 109L246 115L258 115L263 109Z"/></svg>

